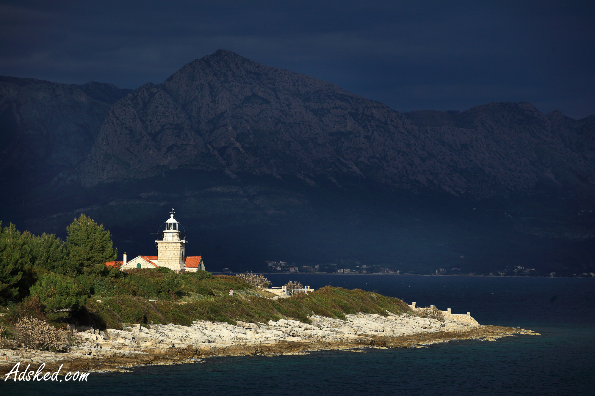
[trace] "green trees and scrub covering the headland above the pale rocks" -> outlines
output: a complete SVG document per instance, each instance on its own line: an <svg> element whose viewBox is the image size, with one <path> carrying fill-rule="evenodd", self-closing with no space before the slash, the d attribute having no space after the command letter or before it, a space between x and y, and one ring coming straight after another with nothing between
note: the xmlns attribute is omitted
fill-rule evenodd
<svg viewBox="0 0 595 396"><path fill-rule="evenodd" d="M269 300L263 298L268 293L256 287L270 284L262 275L177 274L165 267L123 272L105 266L116 254L109 231L85 215L68 227L66 242L55 235L21 233L12 224L2 227L0 223L0 337L4 344L24 342L28 336L23 335L23 328L41 334L39 326L46 323L61 329L54 337L60 342L37 337L28 343L30 347L60 350L70 342L68 324L122 329L130 323L189 326L193 320L235 324L236 320L266 323L291 318L309 322L311 315L345 320L348 313L386 316L387 311L409 310L397 298L331 286ZM232 288L234 296L229 296Z"/></svg>

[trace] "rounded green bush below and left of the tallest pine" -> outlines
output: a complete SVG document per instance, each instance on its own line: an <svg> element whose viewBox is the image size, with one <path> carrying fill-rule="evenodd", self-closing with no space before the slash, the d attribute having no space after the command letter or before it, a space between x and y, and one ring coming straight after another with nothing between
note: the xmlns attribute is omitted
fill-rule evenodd
<svg viewBox="0 0 595 396"><path fill-rule="evenodd" d="M29 288L49 310L79 309L87 301L88 291L79 282L68 276L44 274Z"/></svg>

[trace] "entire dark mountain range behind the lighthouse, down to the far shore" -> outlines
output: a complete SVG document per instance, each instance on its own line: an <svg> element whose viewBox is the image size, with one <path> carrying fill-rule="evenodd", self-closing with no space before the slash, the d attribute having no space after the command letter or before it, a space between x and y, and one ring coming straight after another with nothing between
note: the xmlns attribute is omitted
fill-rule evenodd
<svg viewBox="0 0 595 396"><path fill-rule="evenodd" d="M0 219L21 230L86 213L154 254L175 208L215 270L595 271L595 116L399 113L224 50L134 91L2 81Z"/></svg>

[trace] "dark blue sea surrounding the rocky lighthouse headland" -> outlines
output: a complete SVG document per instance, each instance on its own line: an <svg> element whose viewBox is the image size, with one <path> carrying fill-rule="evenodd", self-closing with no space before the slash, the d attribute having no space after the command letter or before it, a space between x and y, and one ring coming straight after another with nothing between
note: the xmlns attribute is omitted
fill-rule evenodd
<svg viewBox="0 0 595 396"><path fill-rule="evenodd" d="M429 348L242 356L91 373L83 383L0 382L2 395L595 395L595 279L268 275L362 288L481 324L541 333Z"/></svg>

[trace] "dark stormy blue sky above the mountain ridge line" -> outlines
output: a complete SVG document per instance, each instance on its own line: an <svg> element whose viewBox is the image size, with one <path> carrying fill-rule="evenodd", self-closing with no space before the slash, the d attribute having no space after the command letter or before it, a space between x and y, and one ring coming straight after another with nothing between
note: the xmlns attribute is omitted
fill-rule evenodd
<svg viewBox="0 0 595 396"><path fill-rule="evenodd" d="M595 1L0 1L0 74L136 88L224 48L397 111L595 114Z"/></svg>

